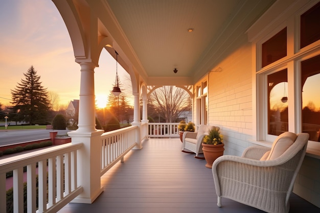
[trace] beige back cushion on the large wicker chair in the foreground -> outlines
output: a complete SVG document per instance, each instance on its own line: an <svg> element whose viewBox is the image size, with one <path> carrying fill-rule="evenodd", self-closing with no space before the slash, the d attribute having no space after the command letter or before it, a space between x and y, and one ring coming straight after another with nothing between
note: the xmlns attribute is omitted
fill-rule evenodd
<svg viewBox="0 0 320 213"><path fill-rule="evenodd" d="M297 135L292 132L284 132L273 142L271 150L266 152L260 160L273 160L282 155L295 141ZM267 157L266 157L267 155Z"/></svg>

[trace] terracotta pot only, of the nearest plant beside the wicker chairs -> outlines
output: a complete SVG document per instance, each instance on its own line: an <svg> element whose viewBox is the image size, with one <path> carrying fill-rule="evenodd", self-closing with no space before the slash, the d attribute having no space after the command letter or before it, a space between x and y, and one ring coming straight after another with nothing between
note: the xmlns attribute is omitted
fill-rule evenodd
<svg viewBox="0 0 320 213"><path fill-rule="evenodd" d="M220 145L211 145L211 144L202 144L203 155L207 164L205 167L212 168L212 163L220 156L223 155L224 144Z"/></svg>

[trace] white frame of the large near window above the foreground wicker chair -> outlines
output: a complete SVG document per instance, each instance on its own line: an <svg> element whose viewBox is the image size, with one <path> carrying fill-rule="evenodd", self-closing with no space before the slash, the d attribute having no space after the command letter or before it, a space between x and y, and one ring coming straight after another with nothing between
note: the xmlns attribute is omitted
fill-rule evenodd
<svg viewBox="0 0 320 213"><path fill-rule="evenodd" d="M316 2L297 8L295 14L282 14L282 22L276 28L268 26L263 35L256 37L252 42L253 47L253 141L257 144L270 146L276 135L268 134L268 109L266 105L267 97L267 75L276 73L287 68L288 72L288 131L302 132L302 94L301 94L301 61L320 55L320 40L300 49L300 16L314 6ZM279 21L279 17L277 19ZM276 35L283 28L287 27L287 56L273 62L265 67L261 67L262 43ZM264 37L262 37L264 36ZM320 143L309 141L308 153L319 158Z"/></svg>

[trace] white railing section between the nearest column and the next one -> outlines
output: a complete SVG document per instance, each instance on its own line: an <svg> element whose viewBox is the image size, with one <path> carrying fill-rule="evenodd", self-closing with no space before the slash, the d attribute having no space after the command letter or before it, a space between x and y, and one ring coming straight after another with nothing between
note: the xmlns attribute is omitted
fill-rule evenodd
<svg viewBox="0 0 320 213"><path fill-rule="evenodd" d="M135 131L138 126L105 132L101 135L101 176L136 145Z"/></svg>

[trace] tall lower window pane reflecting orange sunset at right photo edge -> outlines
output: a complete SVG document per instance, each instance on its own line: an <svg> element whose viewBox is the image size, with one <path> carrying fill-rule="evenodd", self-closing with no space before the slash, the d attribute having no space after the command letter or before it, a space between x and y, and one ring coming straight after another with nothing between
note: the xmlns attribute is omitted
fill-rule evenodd
<svg viewBox="0 0 320 213"><path fill-rule="evenodd" d="M301 73L302 131L320 142L320 56L301 62Z"/></svg>

